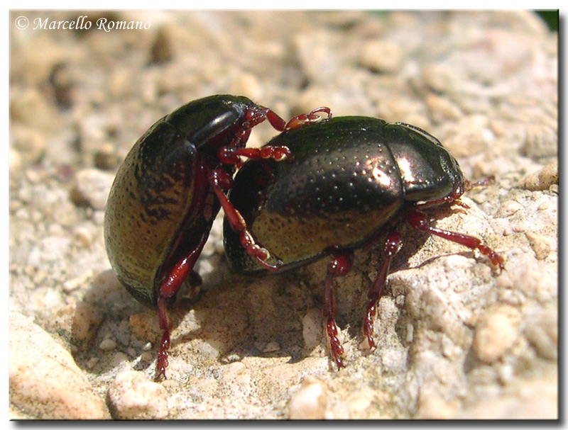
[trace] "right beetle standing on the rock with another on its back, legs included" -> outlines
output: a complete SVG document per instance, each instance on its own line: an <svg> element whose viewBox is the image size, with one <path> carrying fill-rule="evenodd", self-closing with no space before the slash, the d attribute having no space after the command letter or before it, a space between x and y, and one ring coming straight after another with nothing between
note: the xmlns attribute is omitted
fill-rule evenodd
<svg viewBox="0 0 568 430"><path fill-rule="evenodd" d="M324 280L324 315L329 348L344 367L337 338L332 281L351 268L354 249L386 234L383 259L368 293L363 332L373 349L373 320L384 293L393 256L402 247L400 220L412 227L478 249L503 270L503 258L476 237L430 225L424 210L467 205L466 189L481 183L464 179L459 165L435 137L413 125L361 116L334 117L288 130L268 142L293 157L282 163L246 162L234 178L229 201L243 223L271 251L280 270L331 255ZM230 266L246 275L266 269L240 247L234 220L225 217L224 248Z"/></svg>

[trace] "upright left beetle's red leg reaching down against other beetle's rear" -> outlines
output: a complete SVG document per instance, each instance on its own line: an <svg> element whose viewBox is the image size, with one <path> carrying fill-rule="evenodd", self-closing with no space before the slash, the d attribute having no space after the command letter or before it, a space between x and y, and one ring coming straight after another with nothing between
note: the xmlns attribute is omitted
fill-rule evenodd
<svg viewBox="0 0 568 430"><path fill-rule="evenodd" d="M229 222L229 225L231 225L231 228L239 233L241 246L244 247L246 252L253 257L253 259L256 259L258 264L261 264L261 266L270 271L277 271L282 262L278 260L274 265L266 262L271 256L270 252L268 252L268 249L261 247L255 242L253 235L246 228L246 222L241 213L239 213L229 202L229 199L226 198L224 190L231 188L233 183L231 176L222 169L215 169L207 172L207 178L215 195L219 199L219 203L221 203L226 220Z"/></svg>

